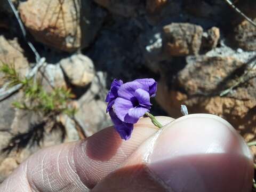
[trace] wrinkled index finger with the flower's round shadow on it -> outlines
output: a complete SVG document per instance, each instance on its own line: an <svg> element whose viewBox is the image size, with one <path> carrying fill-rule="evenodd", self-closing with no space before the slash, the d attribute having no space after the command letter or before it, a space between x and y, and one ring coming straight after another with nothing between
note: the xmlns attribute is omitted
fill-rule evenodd
<svg viewBox="0 0 256 192"><path fill-rule="evenodd" d="M173 120L157 118L162 124ZM150 119L144 118L134 125L128 141L109 127L84 141L43 149L22 163L2 183L0 191L28 191L29 187L34 191L89 191L156 131Z"/></svg>

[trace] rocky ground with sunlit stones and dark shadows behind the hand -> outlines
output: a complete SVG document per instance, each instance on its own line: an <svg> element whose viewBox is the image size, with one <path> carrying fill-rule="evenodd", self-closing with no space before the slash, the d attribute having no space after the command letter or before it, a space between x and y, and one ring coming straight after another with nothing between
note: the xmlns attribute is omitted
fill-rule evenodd
<svg viewBox="0 0 256 192"><path fill-rule="evenodd" d="M105 96L114 78L158 81L155 115L179 117L180 105L190 113L219 115L246 141L256 132L256 27L223 0L12 0L27 39L6 0L0 2L0 60L25 76L35 65L30 41L46 64L38 72L45 90L67 87L75 97L74 119L59 115L58 129L43 126L40 142L25 142L42 118L12 107L21 91L0 102L0 181L40 148L78 140L111 125ZM253 1L236 1L256 21ZM5 81L0 75L0 85ZM47 79L47 81L45 80ZM234 89L223 90L236 85ZM63 134L66 133L66 134ZM23 134L24 135L24 134ZM38 137L38 135L37 135ZM20 142L22 141L22 142Z"/></svg>

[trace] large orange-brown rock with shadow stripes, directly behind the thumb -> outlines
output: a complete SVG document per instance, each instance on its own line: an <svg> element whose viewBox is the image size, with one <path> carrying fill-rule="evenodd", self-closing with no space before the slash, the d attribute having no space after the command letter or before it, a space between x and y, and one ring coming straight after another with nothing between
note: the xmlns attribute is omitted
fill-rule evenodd
<svg viewBox="0 0 256 192"><path fill-rule="evenodd" d="M249 66L230 56L189 57L177 75L178 84L170 86L169 76L162 76L156 99L172 117L181 116L180 105L187 105L189 113L221 116L247 141L255 140L256 69ZM221 91L234 85L246 70L247 81L220 97Z"/></svg>

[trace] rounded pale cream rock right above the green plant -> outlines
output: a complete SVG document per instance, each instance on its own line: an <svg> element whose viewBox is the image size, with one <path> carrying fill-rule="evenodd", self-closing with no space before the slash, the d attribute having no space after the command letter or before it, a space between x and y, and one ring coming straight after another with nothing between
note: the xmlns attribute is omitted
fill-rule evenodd
<svg viewBox="0 0 256 192"><path fill-rule="evenodd" d="M94 66L89 57L83 54L74 54L70 58L62 59L60 66L71 84L86 86L94 78Z"/></svg>

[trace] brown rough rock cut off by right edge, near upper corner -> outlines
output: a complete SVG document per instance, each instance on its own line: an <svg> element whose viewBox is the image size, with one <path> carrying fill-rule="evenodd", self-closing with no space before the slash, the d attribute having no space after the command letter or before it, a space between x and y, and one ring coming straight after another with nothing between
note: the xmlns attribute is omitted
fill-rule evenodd
<svg viewBox="0 0 256 192"><path fill-rule="evenodd" d="M253 20L256 22L256 18ZM244 20L234 28L234 40L238 47L246 51L256 51L256 28Z"/></svg>

